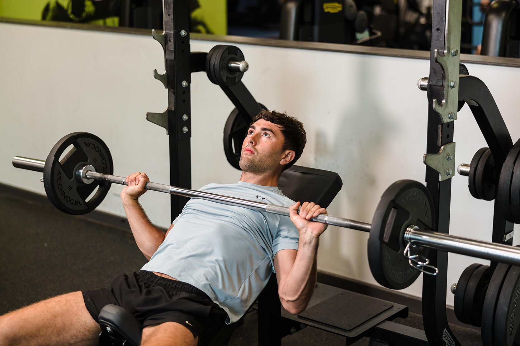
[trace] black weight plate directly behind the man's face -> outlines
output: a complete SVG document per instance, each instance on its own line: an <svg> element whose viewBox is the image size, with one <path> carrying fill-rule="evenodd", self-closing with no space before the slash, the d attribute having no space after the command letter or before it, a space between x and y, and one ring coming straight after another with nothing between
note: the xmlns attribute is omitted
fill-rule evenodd
<svg viewBox="0 0 520 346"><path fill-rule="evenodd" d="M258 103L261 109L267 110L265 105ZM242 155L242 143L248 134L250 125L249 116L246 119L235 108L229 114L226 125L224 125L224 153L229 164L237 169L241 169L239 162ZM233 150L233 143L235 149Z"/></svg>

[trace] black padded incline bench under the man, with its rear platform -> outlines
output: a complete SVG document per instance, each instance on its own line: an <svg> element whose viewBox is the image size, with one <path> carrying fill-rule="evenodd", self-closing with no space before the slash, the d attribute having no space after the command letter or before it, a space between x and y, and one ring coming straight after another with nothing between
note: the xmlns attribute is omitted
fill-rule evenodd
<svg viewBox="0 0 520 346"><path fill-rule="evenodd" d="M294 201L315 202L328 207L341 190L342 181L334 172L293 166L280 177L278 187ZM349 345L362 337L370 337L371 345L407 344L427 345L424 331L389 322L406 317L408 307L382 299L357 294L341 288L318 283L307 309L293 315L281 307L276 274L253 304L258 309L258 345L281 345L281 338L312 326L347 338ZM211 346L225 345L233 330L243 321L224 326ZM136 318L115 305L107 305L99 314L103 345L140 344L140 323ZM384 341L381 343L380 341Z"/></svg>

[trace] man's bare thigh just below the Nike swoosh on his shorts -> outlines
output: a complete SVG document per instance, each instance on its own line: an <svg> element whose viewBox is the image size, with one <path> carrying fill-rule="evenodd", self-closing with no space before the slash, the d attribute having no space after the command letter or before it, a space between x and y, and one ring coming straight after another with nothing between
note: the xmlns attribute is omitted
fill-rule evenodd
<svg viewBox="0 0 520 346"><path fill-rule="evenodd" d="M165 322L143 328L141 346L197 346L198 339L180 323Z"/></svg>

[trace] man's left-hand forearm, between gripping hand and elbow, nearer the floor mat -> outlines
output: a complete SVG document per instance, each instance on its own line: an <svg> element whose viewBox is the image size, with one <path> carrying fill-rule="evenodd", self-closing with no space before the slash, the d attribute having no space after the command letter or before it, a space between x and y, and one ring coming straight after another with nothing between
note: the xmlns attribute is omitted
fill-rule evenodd
<svg viewBox="0 0 520 346"><path fill-rule="evenodd" d="M122 198L122 201L135 242L142 254L149 260L164 241L165 234L148 220L145 211L136 199L125 197Z"/></svg>

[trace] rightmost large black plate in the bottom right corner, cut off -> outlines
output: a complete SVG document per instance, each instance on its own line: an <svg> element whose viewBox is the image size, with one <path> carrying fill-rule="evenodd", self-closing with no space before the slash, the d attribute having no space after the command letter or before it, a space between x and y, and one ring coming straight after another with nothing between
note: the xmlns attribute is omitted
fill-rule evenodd
<svg viewBox="0 0 520 346"><path fill-rule="evenodd" d="M520 323L520 314L516 313L520 300L520 267L512 265L500 290L495 313L493 337L495 345L511 346Z"/></svg>

